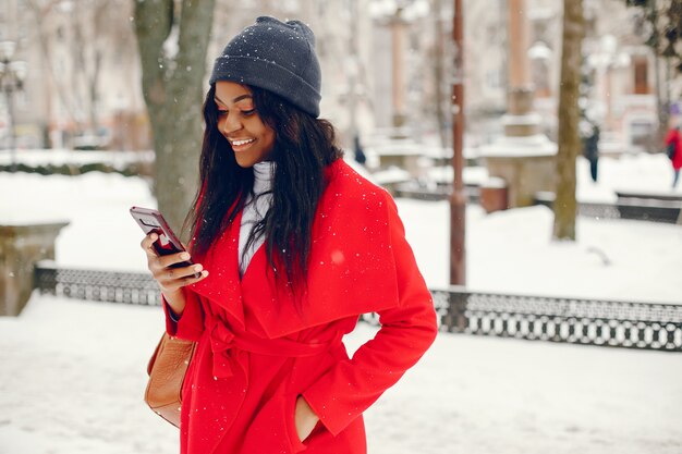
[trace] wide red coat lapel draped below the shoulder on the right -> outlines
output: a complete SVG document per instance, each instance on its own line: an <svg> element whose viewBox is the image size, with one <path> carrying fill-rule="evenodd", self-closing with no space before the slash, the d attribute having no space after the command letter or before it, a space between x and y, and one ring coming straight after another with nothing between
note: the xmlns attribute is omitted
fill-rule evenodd
<svg viewBox="0 0 682 454"><path fill-rule="evenodd" d="M342 160L328 179L313 224L307 285L292 292L276 281L263 253L242 280L246 324L269 338L398 305L389 196Z"/></svg>

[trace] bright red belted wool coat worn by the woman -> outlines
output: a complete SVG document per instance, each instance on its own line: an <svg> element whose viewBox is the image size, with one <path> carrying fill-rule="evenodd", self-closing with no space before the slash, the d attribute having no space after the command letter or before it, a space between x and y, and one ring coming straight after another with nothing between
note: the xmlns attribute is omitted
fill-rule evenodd
<svg viewBox="0 0 682 454"><path fill-rule="evenodd" d="M181 453L365 453L362 413L433 343L433 302L395 204L342 160L326 173L299 300L276 285L263 246L240 279L240 214L203 258L208 278L185 287L178 323L167 309L169 334L198 342ZM350 359L341 338L370 311L381 329ZM304 442L299 395L320 417Z"/></svg>

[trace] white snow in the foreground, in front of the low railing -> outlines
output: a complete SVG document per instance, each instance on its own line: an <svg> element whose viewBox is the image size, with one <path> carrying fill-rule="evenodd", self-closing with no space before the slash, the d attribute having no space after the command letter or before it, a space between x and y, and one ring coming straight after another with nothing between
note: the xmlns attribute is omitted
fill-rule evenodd
<svg viewBox="0 0 682 454"><path fill-rule="evenodd" d="M161 330L158 307L38 295L0 318L0 454L176 453L142 401ZM679 454L681 376L675 354L440 333L366 412L369 453Z"/></svg>

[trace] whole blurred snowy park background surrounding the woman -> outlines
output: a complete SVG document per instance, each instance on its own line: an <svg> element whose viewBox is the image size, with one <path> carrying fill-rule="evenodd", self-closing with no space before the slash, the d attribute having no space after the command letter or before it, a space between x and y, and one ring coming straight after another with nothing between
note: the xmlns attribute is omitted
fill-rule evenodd
<svg viewBox="0 0 682 454"><path fill-rule="evenodd" d="M2 0L0 454L178 452L127 210L180 231L214 58L259 15L315 32L321 116L440 316L369 452L681 453L682 0Z"/></svg>

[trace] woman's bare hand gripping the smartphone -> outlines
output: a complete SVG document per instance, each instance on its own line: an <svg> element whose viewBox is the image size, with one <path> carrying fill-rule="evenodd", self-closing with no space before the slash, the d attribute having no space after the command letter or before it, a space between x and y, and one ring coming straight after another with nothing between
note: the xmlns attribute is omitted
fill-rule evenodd
<svg viewBox="0 0 682 454"><path fill-rule="evenodd" d="M141 246L147 254L147 268L151 275L159 284L163 297L173 309L176 316L181 316L185 308L185 297L182 287L195 282L199 282L208 275L208 271L204 270L200 263L191 265L188 267L170 268L174 263L186 261L190 259L190 253L171 254L168 256L159 256L154 249L154 242L159 235L150 233L142 241ZM198 278L194 274L200 272Z"/></svg>

